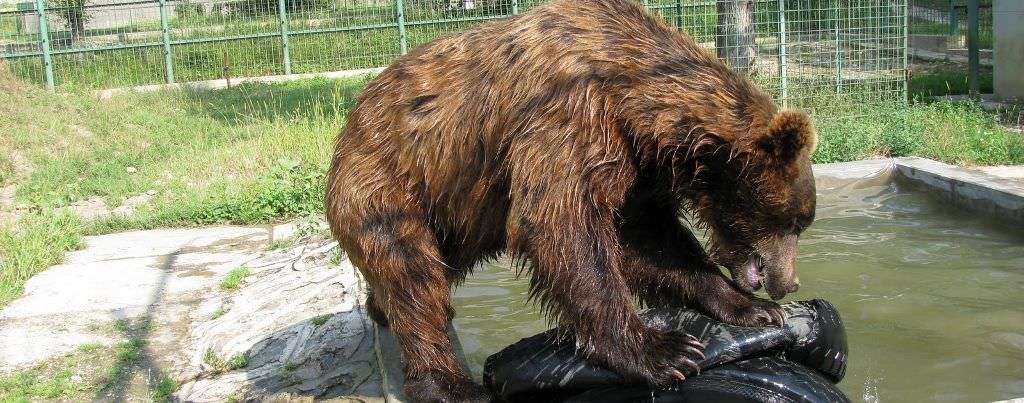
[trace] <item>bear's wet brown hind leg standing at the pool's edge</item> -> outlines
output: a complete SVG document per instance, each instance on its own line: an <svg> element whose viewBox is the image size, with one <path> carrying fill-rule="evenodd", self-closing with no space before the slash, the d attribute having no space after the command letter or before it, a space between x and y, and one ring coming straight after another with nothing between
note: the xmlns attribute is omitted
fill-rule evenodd
<svg viewBox="0 0 1024 403"><path fill-rule="evenodd" d="M372 275L371 316L378 314L406 358L406 395L416 402L484 402L487 391L472 382L456 358L447 326L451 307L445 265L436 238L414 215L365 220L356 239ZM376 311L376 313L374 313ZM376 319L375 319L376 320Z"/></svg>

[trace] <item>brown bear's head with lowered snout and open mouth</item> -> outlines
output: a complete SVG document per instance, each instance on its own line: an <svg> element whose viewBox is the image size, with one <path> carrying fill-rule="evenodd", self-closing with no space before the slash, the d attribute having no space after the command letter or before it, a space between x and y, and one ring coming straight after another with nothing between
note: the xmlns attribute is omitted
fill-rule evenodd
<svg viewBox="0 0 1024 403"><path fill-rule="evenodd" d="M779 300L800 286L797 239L814 221L810 155L817 134L806 114L786 109L732 143L698 200L712 229L712 257L740 289L754 293L763 283Z"/></svg>

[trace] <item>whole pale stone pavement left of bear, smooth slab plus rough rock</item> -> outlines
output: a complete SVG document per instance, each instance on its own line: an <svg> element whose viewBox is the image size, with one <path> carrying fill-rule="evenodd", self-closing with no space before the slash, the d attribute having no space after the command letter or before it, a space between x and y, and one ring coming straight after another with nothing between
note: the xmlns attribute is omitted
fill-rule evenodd
<svg viewBox="0 0 1024 403"><path fill-rule="evenodd" d="M84 250L30 279L25 295L0 311L0 373L86 343L139 338L146 343L138 369L182 382L175 394L182 401L381 400L358 274L323 235L267 251L271 237L292 231L212 227L87 237ZM221 289L242 266L252 274L237 289ZM119 334L112 330L119 320L146 325ZM238 356L248 363L236 370L210 362Z"/></svg>

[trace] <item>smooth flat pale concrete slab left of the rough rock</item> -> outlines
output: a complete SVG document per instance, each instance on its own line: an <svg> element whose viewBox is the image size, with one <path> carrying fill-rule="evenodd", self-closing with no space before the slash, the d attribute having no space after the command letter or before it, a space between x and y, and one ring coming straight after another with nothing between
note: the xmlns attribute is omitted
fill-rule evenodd
<svg viewBox="0 0 1024 403"><path fill-rule="evenodd" d="M167 296L216 284L265 250L266 238L266 229L251 227L86 237L86 249L29 279L25 295L0 311L0 370L84 343L111 344L111 323L152 314Z"/></svg>

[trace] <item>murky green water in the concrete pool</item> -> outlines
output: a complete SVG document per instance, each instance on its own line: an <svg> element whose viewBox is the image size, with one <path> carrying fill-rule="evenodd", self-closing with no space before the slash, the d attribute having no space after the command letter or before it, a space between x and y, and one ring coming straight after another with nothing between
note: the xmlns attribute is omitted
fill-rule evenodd
<svg viewBox="0 0 1024 403"><path fill-rule="evenodd" d="M1024 397L1024 231L883 179L818 184L801 237L801 290L843 315L841 389L865 402ZM508 262L480 265L456 293L473 374L486 357L548 328Z"/></svg>

